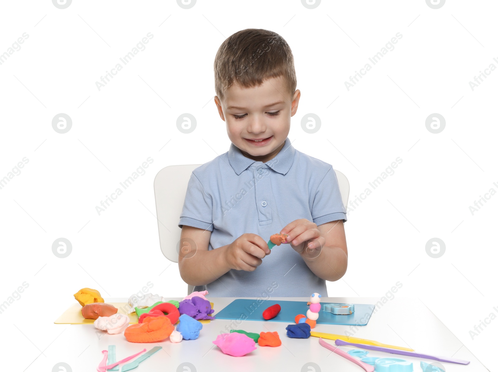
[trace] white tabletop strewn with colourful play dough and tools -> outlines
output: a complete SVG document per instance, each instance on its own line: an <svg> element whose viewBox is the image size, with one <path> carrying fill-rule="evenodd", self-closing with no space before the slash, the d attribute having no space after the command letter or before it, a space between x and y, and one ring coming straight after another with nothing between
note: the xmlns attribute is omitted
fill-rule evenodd
<svg viewBox="0 0 498 372"><path fill-rule="evenodd" d="M249 298L249 297L248 297ZM181 301L182 298L172 298ZM210 297L214 303L216 313L227 306L235 298L232 297ZM255 299L255 298L253 298ZM287 301L309 301L309 297L277 297L271 300ZM108 302L126 302L124 298L109 299ZM358 297L322 297L322 302L340 302L356 304L374 304L378 298ZM211 323L203 324L203 329L197 340L183 340L175 344L169 341L159 343L135 344L129 343L124 334L102 336L93 325L59 325L53 327L61 331L66 330L60 336L64 342L59 342L60 362L67 363L72 372L96 371L97 365L102 360L102 350L107 350L109 345L116 345L116 358L121 360L129 355L146 348L161 346L153 356L142 362L133 371L364 371L361 367L347 361L343 357L332 353L318 343L317 337L308 339L291 339L286 336L285 327L287 323L271 321L243 320L237 324L233 320L217 319ZM228 327L228 329L226 328ZM244 357L232 357L225 355L212 343L220 333L229 333L231 329L242 329L247 332L274 332L277 331L282 346L260 347L256 344L256 350ZM470 351L436 318L436 316L418 299L394 298L387 301L372 315L367 326L337 326L328 324L317 324L312 330L315 332L326 332L334 334L345 334L349 336L375 340L384 344L408 347L417 352L431 355L453 357L467 360L471 363L467 366L441 363L447 371L480 372L488 371ZM100 336L99 336L100 335ZM326 340L335 345L333 340ZM351 347L343 346L341 349L348 351ZM401 358L413 362L414 371L422 371L420 360L404 356L396 356L388 353L370 351L368 356L380 358ZM427 363L436 361L424 360ZM181 366L188 362L189 368ZM305 366L308 362L314 362L319 369ZM440 363L440 362L438 362ZM121 370L120 365L120 370ZM48 367L48 366L47 366ZM52 368L52 366L50 366ZM46 371L51 371L47 369ZM54 371L64 371L56 369ZM69 372L69 370L67 370Z"/></svg>

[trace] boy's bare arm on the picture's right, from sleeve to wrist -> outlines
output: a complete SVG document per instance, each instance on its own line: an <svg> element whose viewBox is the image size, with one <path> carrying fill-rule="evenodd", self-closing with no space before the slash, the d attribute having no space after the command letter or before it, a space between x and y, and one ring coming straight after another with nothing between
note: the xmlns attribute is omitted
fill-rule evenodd
<svg viewBox="0 0 498 372"><path fill-rule="evenodd" d="M320 236L325 238L325 245L321 250L305 248L300 254L316 276L329 281L339 280L348 267L348 247L343 220L318 225L317 229Z"/></svg>

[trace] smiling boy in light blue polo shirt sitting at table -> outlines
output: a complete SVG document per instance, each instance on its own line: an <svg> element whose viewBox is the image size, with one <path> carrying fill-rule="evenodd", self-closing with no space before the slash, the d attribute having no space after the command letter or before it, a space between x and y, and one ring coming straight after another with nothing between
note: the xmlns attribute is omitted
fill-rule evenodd
<svg viewBox="0 0 498 372"><path fill-rule="evenodd" d="M245 29L222 43L214 68L232 144L188 182L180 275L213 297L327 297L325 280L347 268L346 209L332 166L287 137L301 96L292 52L274 32ZM270 251L277 233L288 238Z"/></svg>

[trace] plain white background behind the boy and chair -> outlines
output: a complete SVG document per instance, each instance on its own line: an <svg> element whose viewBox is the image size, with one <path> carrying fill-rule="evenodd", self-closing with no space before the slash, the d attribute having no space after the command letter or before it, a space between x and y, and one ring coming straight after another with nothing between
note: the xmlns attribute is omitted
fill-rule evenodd
<svg viewBox="0 0 498 372"><path fill-rule="evenodd" d="M153 293L186 295L178 265L159 249L152 182L165 166L228 151L213 102L214 57L234 32L265 28L295 58L301 100L289 138L296 149L343 172L350 200L402 159L350 211L348 271L327 283L329 296L383 296L399 281L395 296L419 297L498 371L491 356L498 196L469 210L498 191L498 71L469 85L498 67L497 9L494 1L463 0L439 9L423 0L322 1L315 9L297 0L197 1L190 9L158 0L74 0L65 9L49 0L2 1L0 53L29 35L0 65L0 178L29 160L0 189L0 302L29 285L0 314L4 337L22 345L9 358L20 371L28 367L60 333L52 322L82 287L128 297L150 281ZM99 91L95 83L149 32L146 48ZM398 32L394 49L348 91L345 81ZM59 113L72 119L64 134L52 128ZM176 127L183 113L197 120L192 133ZM301 128L308 113L321 119L314 134ZM437 134L425 125L433 113L446 120ZM98 215L101 200L148 157L145 174ZM52 253L61 237L72 244L66 258ZM439 258L426 252L433 238L446 246ZM27 371L48 371L46 358Z"/></svg>

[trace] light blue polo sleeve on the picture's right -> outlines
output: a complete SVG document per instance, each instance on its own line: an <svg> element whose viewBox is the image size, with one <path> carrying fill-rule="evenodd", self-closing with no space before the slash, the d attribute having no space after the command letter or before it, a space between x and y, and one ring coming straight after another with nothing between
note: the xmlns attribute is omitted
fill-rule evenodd
<svg viewBox="0 0 498 372"><path fill-rule="evenodd" d="M332 167L318 185L315 199L313 200L311 217L317 226L337 220L348 221L336 172Z"/></svg>

